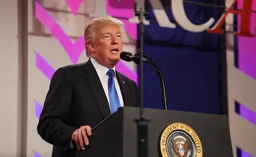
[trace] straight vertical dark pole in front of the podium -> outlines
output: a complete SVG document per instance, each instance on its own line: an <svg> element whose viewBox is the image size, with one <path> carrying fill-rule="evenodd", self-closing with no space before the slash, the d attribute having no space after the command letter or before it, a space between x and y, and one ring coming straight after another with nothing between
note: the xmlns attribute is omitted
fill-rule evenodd
<svg viewBox="0 0 256 157"><path fill-rule="evenodd" d="M139 33L140 33L140 49L143 51L144 49L144 16L148 15L147 7L140 6L139 10L137 10L137 3L134 2L134 14L138 16L139 23ZM143 60L143 53L140 53L140 60ZM140 117L136 120L137 122L137 155L138 157L148 157L148 123L149 119L145 117L143 110L143 73L144 73L144 65L143 62L140 62Z"/></svg>

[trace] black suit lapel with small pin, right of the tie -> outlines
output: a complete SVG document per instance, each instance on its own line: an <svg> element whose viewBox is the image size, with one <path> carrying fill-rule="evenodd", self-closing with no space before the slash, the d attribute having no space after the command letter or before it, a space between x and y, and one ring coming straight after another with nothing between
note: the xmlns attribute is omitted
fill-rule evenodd
<svg viewBox="0 0 256 157"><path fill-rule="evenodd" d="M122 76L116 72L116 79L118 79L118 83L120 86L120 90L122 92L122 97L123 97L123 105L124 106L130 106L130 101L129 101L129 88L127 88L127 85L125 81L123 80Z"/></svg>

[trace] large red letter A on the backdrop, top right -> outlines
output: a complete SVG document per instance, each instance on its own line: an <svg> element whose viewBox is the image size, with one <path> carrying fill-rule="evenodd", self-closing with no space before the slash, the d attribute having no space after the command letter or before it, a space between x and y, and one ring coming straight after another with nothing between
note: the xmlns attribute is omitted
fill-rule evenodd
<svg viewBox="0 0 256 157"><path fill-rule="evenodd" d="M221 16L219 21L215 24L215 26L212 28L209 28L209 30L207 30L209 33L223 34L223 30L221 30L221 26L227 16L227 14L234 13L237 15L241 15L240 31L238 33L235 33L234 35L253 37L253 34L251 34L251 32L250 32L251 10L252 10L252 6L253 6L253 0L244 0L242 10L233 10L235 3L237 3L237 0L234 0L232 5L229 7L229 9L225 13L223 13L223 15Z"/></svg>

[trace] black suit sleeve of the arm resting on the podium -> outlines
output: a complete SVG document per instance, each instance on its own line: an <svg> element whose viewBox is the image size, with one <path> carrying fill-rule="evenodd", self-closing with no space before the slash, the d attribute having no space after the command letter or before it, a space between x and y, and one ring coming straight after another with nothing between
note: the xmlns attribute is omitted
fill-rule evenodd
<svg viewBox="0 0 256 157"><path fill-rule="evenodd" d="M71 85L66 70L56 70L37 126L38 134L43 140L64 151L70 149L72 134L77 129L67 125L72 108Z"/></svg>

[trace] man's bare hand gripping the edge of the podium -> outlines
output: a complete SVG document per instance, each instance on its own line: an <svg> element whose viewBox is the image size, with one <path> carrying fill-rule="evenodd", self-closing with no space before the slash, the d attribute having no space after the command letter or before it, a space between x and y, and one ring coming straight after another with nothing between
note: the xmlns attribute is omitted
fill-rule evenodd
<svg viewBox="0 0 256 157"><path fill-rule="evenodd" d="M89 145L88 136L91 135L90 126L81 126L72 134L72 140L76 142L79 151L86 149L84 144Z"/></svg>

